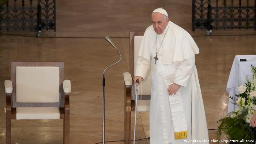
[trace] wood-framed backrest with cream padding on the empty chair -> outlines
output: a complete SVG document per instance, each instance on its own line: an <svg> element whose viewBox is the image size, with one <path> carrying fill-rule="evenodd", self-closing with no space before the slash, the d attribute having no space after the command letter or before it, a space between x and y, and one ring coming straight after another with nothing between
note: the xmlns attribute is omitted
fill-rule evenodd
<svg viewBox="0 0 256 144"><path fill-rule="evenodd" d="M63 107L64 62L12 62L12 107Z"/></svg>

